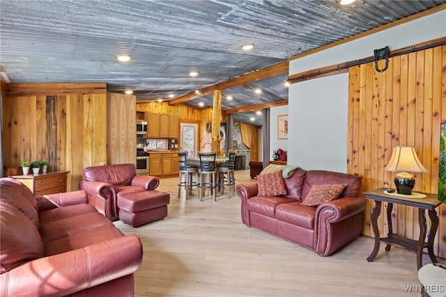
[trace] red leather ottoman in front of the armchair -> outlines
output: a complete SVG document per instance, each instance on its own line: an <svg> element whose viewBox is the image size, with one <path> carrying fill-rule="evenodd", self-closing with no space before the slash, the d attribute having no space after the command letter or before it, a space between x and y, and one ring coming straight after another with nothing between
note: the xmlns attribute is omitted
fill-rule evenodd
<svg viewBox="0 0 446 297"><path fill-rule="evenodd" d="M119 220L132 227L167 216L168 193L152 190L118 196Z"/></svg>

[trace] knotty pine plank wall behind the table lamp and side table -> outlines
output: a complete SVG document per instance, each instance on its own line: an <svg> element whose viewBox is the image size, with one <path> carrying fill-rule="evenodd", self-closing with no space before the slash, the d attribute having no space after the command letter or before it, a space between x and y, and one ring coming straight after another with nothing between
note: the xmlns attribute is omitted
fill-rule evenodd
<svg viewBox="0 0 446 297"><path fill-rule="evenodd" d="M394 188L394 172L384 167L393 147L411 145L428 170L415 174L414 190L438 193L440 123L446 120L446 46L390 58L385 72L376 72L374 63L351 67L348 92L348 172L363 177L362 191ZM367 201L362 232L368 236L373 236L372 207L374 203ZM444 258L446 204L437 211L440 226L434 251ZM385 209L378 220L381 236L387 234L383 214ZM418 239L413 207L394 205L392 225L394 232Z"/></svg>

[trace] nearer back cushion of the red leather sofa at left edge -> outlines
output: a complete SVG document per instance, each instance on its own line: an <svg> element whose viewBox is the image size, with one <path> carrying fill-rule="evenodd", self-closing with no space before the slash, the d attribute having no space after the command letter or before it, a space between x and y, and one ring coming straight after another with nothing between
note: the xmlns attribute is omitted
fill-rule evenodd
<svg viewBox="0 0 446 297"><path fill-rule="evenodd" d="M0 200L0 229L0 273L43 257L43 244L36 226L4 199Z"/></svg>

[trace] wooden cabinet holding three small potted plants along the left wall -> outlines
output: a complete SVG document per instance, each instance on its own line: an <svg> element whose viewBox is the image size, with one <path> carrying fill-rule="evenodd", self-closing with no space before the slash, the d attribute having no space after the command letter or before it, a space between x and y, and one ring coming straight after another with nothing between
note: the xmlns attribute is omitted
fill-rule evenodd
<svg viewBox="0 0 446 297"><path fill-rule="evenodd" d="M67 175L70 171L39 173L38 175L15 175L36 196L63 193L67 191Z"/></svg>

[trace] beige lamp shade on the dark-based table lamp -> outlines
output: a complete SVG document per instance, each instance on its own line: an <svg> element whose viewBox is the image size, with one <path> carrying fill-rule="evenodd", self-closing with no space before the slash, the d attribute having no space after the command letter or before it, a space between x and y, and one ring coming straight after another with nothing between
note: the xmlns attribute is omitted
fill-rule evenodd
<svg viewBox="0 0 446 297"><path fill-rule="evenodd" d="M415 147L394 147L390 161L384 170L393 172L427 172L418 159Z"/></svg>

